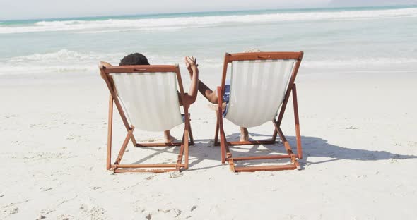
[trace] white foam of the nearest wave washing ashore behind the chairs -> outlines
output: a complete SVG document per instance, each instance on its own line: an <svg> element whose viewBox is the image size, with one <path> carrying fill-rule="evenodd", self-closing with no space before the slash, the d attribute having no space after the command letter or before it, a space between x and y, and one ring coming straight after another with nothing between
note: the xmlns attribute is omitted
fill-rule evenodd
<svg viewBox="0 0 417 220"><path fill-rule="evenodd" d="M45 54L30 54L27 56L15 56L0 59L0 75L4 74L34 74L34 73L97 73L98 61L107 61L114 65L126 54L112 53L99 54L95 52L80 52L61 49ZM175 64L182 63L180 56L160 56L158 54L146 54L152 63ZM199 57L201 67L206 70L218 69L223 66L223 57ZM412 57L368 57L363 59L312 59L306 56L303 60L303 68L365 68L377 66L404 66L404 64L417 66L417 59ZM183 67L183 65L180 64ZM201 74L205 74L204 71Z"/></svg>

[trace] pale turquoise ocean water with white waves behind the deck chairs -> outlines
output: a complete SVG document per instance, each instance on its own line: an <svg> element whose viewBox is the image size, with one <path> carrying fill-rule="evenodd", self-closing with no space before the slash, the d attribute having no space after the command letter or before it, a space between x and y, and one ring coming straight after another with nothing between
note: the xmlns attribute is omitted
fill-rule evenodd
<svg viewBox="0 0 417 220"><path fill-rule="evenodd" d="M218 70L225 52L252 48L305 51L302 74L417 73L417 6L0 21L0 75L97 74L133 52Z"/></svg>

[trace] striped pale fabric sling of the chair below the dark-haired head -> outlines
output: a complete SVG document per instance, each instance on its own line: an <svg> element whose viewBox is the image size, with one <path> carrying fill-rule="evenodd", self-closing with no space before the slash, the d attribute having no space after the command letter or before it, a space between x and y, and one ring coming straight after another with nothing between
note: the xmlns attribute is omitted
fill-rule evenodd
<svg viewBox="0 0 417 220"><path fill-rule="evenodd" d="M183 123L175 73L112 73L117 95L135 128L170 130Z"/></svg>

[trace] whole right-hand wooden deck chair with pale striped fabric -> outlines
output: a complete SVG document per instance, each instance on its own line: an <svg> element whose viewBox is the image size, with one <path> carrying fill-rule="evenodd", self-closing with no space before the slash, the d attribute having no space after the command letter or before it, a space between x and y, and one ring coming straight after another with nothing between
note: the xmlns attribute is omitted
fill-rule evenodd
<svg viewBox="0 0 417 220"><path fill-rule="evenodd" d="M302 159L303 152L300 140L300 125L298 120L297 92L295 77L303 59L303 51L300 52L257 52L241 54L225 54L223 66L223 78L221 87L217 87L218 103L222 103L225 91L225 79L229 63L231 66L230 98L225 118L237 126L251 128L260 126L268 121L274 124L274 133L271 140L236 141L228 142L223 130L223 110L218 105L215 145L219 145L218 133L220 132L221 161L228 161L230 169L234 172L252 171L279 171L299 169L298 159ZM288 99L292 92L295 134L297 153L295 154L284 136L280 126L283 114L286 111ZM281 110L280 110L281 107ZM278 114L278 110L279 114ZM276 116L278 115L278 118ZM252 157L233 157L230 145L266 145L276 142L279 135L286 149L285 155L265 155ZM290 159L288 165L276 166L235 166L235 161L258 159Z"/></svg>

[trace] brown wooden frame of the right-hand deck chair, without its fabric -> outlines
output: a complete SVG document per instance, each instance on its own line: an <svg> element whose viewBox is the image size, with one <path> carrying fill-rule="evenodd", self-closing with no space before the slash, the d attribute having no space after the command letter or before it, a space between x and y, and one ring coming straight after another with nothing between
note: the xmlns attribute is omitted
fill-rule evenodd
<svg viewBox="0 0 417 220"><path fill-rule="evenodd" d="M271 60L271 59L295 59L297 62L291 73L290 80L288 82L288 88L283 99L283 104L281 105L281 110L278 114L278 119L272 121L274 124L274 133L271 140L252 140L252 141L234 141L228 142L225 137L225 132L223 130L223 110L221 109L221 104L223 102L223 91L225 88L225 79L228 69L228 63L232 61L250 61L250 60ZM214 145L221 146L221 162L225 164L225 161L228 161L230 169L233 172L253 172L253 171L281 171L281 170L291 170L291 169L300 169L300 164L298 159L303 158L303 149L301 147L301 137L300 137L300 121L298 118L298 103L297 103L297 90L295 86L295 77L298 73L298 68L300 68L301 60L303 59L303 51L299 52L257 52L257 53L240 53L240 54L225 54L225 61L223 64L223 77L221 79L221 87L217 87L218 95L218 111L217 111L217 123L216 123L216 134L214 137ZM256 92L256 91L254 91ZM286 139L283 131L281 130L281 121L283 119L284 112L286 111L286 106L288 100L290 99L290 94L293 98L293 108L294 108L294 121L295 121L295 135L297 142L297 153L295 154L291 149L288 140ZM218 134L220 132L220 143L218 142ZM266 155L266 156L252 156L252 157L233 157L230 152L229 146L234 145L268 145L276 143L276 135L279 135L283 146L286 149L286 155ZM246 160L259 160L259 159L290 159L291 163L287 165L275 165L275 166L245 166L237 167L235 166L234 161L246 161Z"/></svg>

